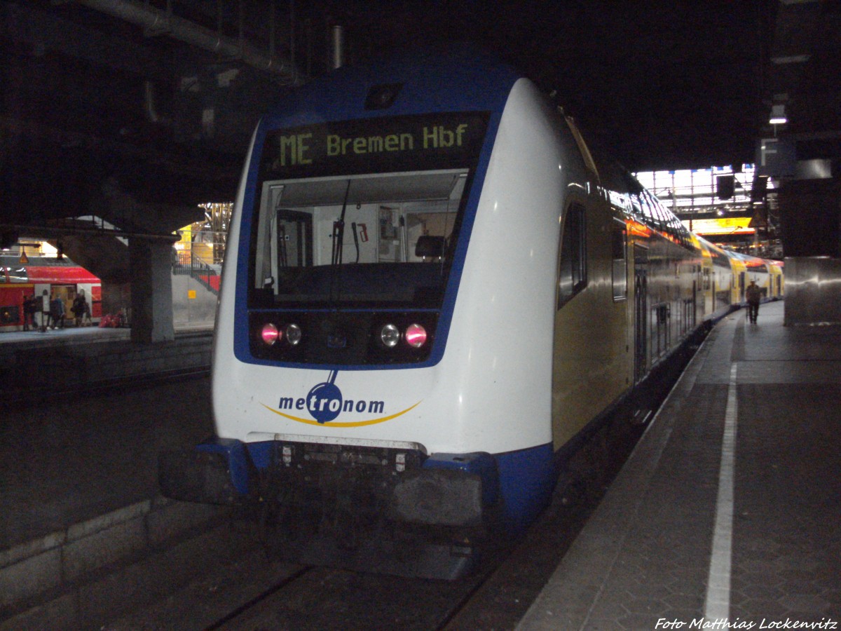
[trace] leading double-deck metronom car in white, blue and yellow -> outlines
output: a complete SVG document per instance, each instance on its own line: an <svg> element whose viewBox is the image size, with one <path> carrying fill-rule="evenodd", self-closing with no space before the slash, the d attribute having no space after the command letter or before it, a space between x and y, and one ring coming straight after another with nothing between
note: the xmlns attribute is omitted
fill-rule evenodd
<svg viewBox="0 0 841 631"><path fill-rule="evenodd" d="M289 559L402 575L455 578L521 533L581 438L733 304L727 255L470 50L286 98L227 242L216 436L162 453L161 490L257 506Z"/></svg>

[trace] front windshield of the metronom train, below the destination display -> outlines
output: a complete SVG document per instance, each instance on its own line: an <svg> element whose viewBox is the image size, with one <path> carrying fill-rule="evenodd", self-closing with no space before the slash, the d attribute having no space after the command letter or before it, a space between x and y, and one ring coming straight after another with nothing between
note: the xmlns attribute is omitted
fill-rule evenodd
<svg viewBox="0 0 841 631"><path fill-rule="evenodd" d="M467 169L271 181L254 305L441 304Z"/></svg>

